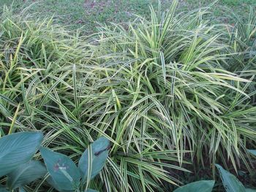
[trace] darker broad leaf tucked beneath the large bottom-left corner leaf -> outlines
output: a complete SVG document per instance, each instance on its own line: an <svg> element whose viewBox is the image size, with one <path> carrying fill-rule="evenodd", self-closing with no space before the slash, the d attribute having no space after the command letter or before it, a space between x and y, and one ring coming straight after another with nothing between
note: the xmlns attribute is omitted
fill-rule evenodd
<svg viewBox="0 0 256 192"><path fill-rule="evenodd" d="M46 173L47 170L40 161L29 161L7 174L7 186L10 189L19 188L43 177Z"/></svg>

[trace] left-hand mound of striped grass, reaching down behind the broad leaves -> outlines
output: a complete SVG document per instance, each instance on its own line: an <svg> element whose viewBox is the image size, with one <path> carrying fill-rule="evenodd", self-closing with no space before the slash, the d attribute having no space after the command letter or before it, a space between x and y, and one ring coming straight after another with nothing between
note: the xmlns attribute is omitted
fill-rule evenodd
<svg viewBox="0 0 256 192"><path fill-rule="evenodd" d="M4 45L1 49L6 50L0 55L0 118L4 129L10 126L17 131L39 128L47 135L44 146L61 149L65 155L72 154L75 162L89 142L99 135L108 138L113 142L111 158L101 177L91 180L91 188L163 191L159 181L179 183L167 169L187 171L176 164L177 155L187 151L177 153L161 142L166 128L157 127L161 123L157 123L156 117L151 122L145 115L141 119L138 115L134 124L133 119L128 124L121 122L125 117L124 111L120 110L120 115L117 112L116 88L100 86L102 80L105 86L105 70L116 72L116 67L108 69L99 65L98 60L104 62L97 55L102 47L95 47L87 37L70 35L52 20L29 22L29 16L16 17L7 9L1 20L3 43L0 46ZM128 98L127 107L128 102L133 101ZM142 119L144 125L140 129L138 122ZM132 129L135 131L129 134Z"/></svg>

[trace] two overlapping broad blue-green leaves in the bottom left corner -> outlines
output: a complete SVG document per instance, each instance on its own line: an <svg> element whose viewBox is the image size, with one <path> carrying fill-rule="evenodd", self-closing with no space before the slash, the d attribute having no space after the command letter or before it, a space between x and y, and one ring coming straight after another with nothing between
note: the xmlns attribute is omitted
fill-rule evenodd
<svg viewBox="0 0 256 192"><path fill-rule="evenodd" d="M21 188L46 174L42 163L31 160L42 139L41 132L26 131L0 138L0 177L7 175L7 188Z"/></svg>

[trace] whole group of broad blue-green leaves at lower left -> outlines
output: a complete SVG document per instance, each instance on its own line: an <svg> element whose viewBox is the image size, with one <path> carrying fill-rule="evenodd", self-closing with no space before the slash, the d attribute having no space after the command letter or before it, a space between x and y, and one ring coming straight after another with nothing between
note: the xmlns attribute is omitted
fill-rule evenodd
<svg viewBox="0 0 256 192"><path fill-rule="evenodd" d="M0 139L0 177L7 175L7 186L0 185L1 191L5 192L7 188L24 191L24 185L45 177L48 171L46 181L57 191L97 192L88 187L90 180L99 174L108 158L108 139L100 137L89 145L81 155L78 166L67 155L40 147L42 139L42 132L28 131L9 134ZM45 165L41 161L31 160L37 150L40 150Z"/></svg>

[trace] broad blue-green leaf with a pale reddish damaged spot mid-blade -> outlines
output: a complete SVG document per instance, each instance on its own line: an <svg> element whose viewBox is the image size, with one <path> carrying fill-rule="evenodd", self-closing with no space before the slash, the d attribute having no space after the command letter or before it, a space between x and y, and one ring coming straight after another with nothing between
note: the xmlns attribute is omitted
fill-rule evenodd
<svg viewBox="0 0 256 192"><path fill-rule="evenodd" d="M45 161L53 182L61 190L75 190L80 183L80 172L75 163L66 155L56 153L44 147L40 153Z"/></svg>

